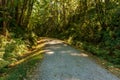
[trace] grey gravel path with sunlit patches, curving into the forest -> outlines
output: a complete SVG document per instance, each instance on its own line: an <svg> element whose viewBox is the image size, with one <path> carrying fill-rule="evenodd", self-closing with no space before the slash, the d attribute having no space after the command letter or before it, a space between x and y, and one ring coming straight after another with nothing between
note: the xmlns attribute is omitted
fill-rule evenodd
<svg viewBox="0 0 120 80"><path fill-rule="evenodd" d="M61 41L51 40L46 44L44 59L29 80L120 80L87 54Z"/></svg>

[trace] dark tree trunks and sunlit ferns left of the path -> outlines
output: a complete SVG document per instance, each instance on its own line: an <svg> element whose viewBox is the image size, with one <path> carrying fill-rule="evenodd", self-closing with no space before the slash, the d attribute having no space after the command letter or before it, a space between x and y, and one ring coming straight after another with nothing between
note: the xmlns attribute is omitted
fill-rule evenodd
<svg viewBox="0 0 120 80"><path fill-rule="evenodd" d="M35 40L27 28L35 0L0 0L0 72Z"/></svg>

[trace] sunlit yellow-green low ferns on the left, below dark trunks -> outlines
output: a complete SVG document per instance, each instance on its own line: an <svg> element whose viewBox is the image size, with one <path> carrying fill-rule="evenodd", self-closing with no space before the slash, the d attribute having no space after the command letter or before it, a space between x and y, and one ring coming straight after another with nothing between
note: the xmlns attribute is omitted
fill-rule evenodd
<svg viewBox="0 0 120 80"><path fill-rule="evenodd" d="M18 57L25 54L28 50L27 44L20 38L7 39L4 36L0 36L0 70L16 62Z"/></svg>

